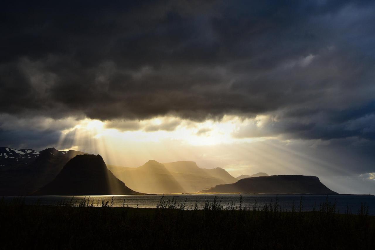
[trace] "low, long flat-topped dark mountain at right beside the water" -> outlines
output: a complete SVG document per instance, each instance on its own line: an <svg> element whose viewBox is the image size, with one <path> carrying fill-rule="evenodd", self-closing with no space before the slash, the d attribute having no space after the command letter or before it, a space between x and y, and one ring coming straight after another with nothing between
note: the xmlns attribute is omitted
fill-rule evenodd
<svg viewBox="0 0 375 250"><path fill-rule="evenodd" d="M317 176L272 175L240 179L233 184L217 185L199 193L255 194L337 194L320 182Z"/></svg>

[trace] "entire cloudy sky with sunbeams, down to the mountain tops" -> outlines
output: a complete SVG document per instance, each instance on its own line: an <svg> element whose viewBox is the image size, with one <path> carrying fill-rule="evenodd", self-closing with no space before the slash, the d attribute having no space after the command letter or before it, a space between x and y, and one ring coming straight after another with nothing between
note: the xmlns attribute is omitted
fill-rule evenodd
<svg viewBox="0 0 375 250"><path fill-rule="evenodd" d="M0 146L375 194L373 1L129 2L2 5Z"/></svg>

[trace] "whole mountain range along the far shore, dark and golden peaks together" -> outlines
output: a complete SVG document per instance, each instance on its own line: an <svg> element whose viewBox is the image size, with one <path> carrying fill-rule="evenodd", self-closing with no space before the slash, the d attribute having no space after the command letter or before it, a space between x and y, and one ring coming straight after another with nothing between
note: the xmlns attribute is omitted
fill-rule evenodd
<svg viewBox="0 0 375 250"><path fill-rule="evenodd" d="M108 165L107 168L100 155L88 155L81 151L47 148L37 152L33 149L1 147L0 196L31 193L337 194L322 184L316 176L268 176L267 173L260 172L234 178L225 169L200 168L194 161L159 163L149 160L136 168L113 165Z"/></svg>

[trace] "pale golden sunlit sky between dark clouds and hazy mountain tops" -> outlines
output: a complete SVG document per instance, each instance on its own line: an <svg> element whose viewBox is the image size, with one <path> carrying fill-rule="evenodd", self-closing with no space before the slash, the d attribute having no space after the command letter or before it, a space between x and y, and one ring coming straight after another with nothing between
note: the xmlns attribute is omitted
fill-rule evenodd
<svg viewBox="0 0 375 250"><path fill-rule="evenodd" d="M339 169L339 166L273 143L271 137L236 137L244 127L256 130L269 122L272 119L267 116L254 119L226 116L220 121L205 122L157 117L111 124L84 119L63 130L57 148L100 154L105 163L126 167L138 167L148 160L196 161L200 167L222 167L233 176L265 170L272 174L316 175L311 172L314 166ZM286 145L293 143L297 142L285 142Z"/></svg>

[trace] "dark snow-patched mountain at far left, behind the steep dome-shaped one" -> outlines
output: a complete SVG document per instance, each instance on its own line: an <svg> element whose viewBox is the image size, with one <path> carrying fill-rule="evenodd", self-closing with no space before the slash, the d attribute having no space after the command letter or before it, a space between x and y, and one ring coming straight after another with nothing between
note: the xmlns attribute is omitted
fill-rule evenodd
<svg viewBox="0 0 375 250"><path fill-rule="evenodd" d="M0 158L1 196L30 194L52 181L71 158L87 154L74 150L58 151L55 148L47 148L40 152L32 149L0 148L0 150L2 152L0 153L2 154Z"/></svg>

